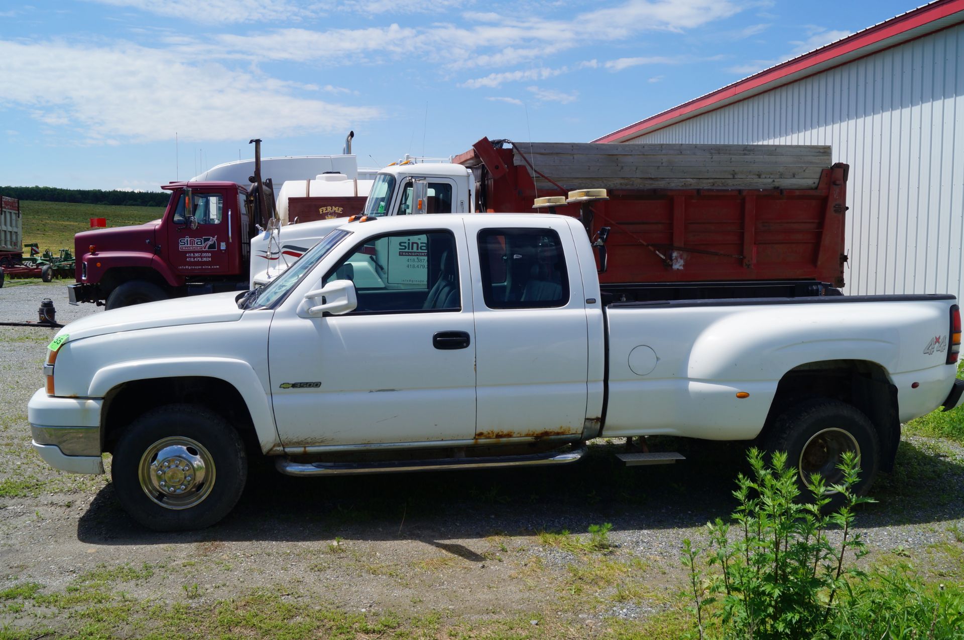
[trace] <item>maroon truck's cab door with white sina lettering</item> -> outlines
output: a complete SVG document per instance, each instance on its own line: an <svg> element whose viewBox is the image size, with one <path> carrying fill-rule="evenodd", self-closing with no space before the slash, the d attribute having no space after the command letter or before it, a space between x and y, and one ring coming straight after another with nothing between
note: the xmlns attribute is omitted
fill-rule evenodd
<svg viewBox="0 0 964 640"><path fill-rule="evenodd" d="M190 193L191 214L198 220L192 229L186 200ZM174 213L165 220L168 261L181 274L234 274L240 272L240 251L231 252L237 237L236 195L216 189L182 190ZM228 220L234 225L229 229Z"/></svg>

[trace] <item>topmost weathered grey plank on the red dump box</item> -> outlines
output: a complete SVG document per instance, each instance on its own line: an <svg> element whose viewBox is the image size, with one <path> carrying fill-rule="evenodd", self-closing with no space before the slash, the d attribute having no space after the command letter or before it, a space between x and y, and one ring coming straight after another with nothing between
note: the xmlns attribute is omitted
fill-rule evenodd
<svg viewBox="0 0 964 640"><path fill-rule="evenodd" d="M826 157L830 147L822 144L637 144L634 142L513 142L526 156L534 153L625 154L658 156L768 155Z"/></svg>

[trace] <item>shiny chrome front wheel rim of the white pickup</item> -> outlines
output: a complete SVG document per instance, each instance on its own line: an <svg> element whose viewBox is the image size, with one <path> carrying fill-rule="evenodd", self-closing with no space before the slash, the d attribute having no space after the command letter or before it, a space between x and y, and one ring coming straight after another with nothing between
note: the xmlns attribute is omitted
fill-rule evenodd
<svg viewBox="0 0 964 640"><path fill-rule="evenodd" d="M187 509L214 488L214 460L198 441L172 436L147 448L138 475L147 498L168 509Z"/></svg>

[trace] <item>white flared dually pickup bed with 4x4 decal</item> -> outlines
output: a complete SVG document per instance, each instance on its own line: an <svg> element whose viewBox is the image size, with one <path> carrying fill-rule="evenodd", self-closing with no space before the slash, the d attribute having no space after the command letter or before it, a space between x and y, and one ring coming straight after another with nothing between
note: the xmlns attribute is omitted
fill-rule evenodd
<svg viewBox="0 0 964 640"><path fill-rule="evenodd" d="M951 391L956 369L945 359L953 300L921 294L609 304L603 433L751 439L781 379L815 363L863 368L894 385L900 422L917 418Z"/></svg>

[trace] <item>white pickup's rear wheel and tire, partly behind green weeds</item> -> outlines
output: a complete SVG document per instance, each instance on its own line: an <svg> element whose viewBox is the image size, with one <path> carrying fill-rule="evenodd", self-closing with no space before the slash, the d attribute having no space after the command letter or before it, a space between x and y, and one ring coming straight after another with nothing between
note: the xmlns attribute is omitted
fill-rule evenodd
<svg viewBox="0 0 964 640"><path fill-rule="evenodd" d="M801 402L777 418L765 438L771 454L787 451L787 465L796 470L801 497L812 499L807 487L810 474L818 473L827 486L841 482L837 465L846 450L860 456L860 479L854 487L858 496L870 489L880 467L880 439L870 419L856 407L840 400L814 399ZM844 496L831 494L828 508L844 504Z"/></svg>

